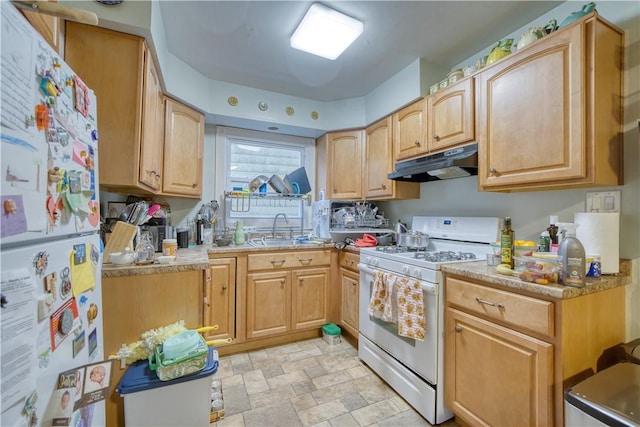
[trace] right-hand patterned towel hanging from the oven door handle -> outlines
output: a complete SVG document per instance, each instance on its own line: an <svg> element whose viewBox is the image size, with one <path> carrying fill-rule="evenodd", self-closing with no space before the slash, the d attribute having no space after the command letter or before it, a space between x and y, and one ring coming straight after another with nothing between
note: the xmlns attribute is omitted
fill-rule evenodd
<svg viewBox="0 0 640 427"><path fill-rule="evenodd" d="M406 277L396 281L398 306L398 335L424 341L425 316L422 286Z"/></svg>

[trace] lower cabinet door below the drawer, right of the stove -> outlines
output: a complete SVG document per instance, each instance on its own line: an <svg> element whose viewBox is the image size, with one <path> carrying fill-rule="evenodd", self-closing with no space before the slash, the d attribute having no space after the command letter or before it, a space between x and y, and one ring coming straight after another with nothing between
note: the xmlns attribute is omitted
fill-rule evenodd
<svg viewBox="0 0 640 427"><path fill-rule="evenodd" d="M553 425L553 346L448 308L445 404L470 425Z"/></svg>

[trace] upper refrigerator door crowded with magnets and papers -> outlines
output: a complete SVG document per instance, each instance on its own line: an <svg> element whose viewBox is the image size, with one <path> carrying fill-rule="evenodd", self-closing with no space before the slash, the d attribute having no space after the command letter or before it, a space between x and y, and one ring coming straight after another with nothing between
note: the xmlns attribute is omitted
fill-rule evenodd
<svg viewBox="0 0 640 427"><path fill-rule="evenodd" d="M10 2L0 2L3 247L99 229L93 91Z"/></svg>

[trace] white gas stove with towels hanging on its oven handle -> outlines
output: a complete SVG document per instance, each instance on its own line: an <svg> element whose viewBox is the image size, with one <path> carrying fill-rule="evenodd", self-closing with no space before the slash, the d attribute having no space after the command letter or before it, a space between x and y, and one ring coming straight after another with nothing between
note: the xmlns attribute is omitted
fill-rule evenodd
<svg viewBox="0 0 640 427"><path fill-rule="evenodd" d="M413 218L411 229L429 236L426 248L360 249L358 354L431 424L453 417L444 405L444 283L440 266L486 262L486 254L492 252L490 243L498 239L500 223L500 218L418 216ZM422 287L423 341L400 336L396 323L369 315L377 271L416 280Z"/></svg>

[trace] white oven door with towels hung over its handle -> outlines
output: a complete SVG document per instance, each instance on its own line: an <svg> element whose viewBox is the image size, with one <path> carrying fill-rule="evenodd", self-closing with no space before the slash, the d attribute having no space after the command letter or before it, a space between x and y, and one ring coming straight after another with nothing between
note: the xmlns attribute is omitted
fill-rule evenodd
<svg viewBox="0 0 640 427"><path fill-rule="evenodd" d="M376 270L364 264L359 264L358 268L360 269L360 333L423 379L433 385L437 384L438 285L419 281L424 295L426 327L424 341L414 340L398 335L396 323L385 322L369 315L373 274ZM396 274L386 270L382 271Z"/></svg>

